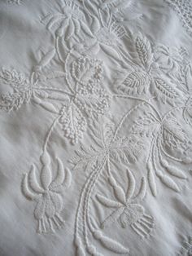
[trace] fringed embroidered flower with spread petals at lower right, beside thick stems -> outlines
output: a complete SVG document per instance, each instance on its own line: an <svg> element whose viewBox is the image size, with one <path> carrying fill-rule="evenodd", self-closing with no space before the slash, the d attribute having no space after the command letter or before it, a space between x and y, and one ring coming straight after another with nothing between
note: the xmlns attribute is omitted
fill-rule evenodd
<svg viewBox="0 0 192 256"><path fill-rule="evenodd" d="M117 201L108 199L105 196L97 195L98 201L106 207L113 208L111 214L105 218L102 227L107 227L109 224L118 221L121 227L132 227L142 238L148 236L154 226L154 219L145 213L145 209L139 204L146 195L146 179L143 177L141 187L136 196L133 196L135 191L135 179L133 174L127 170L129 177L129 188L125 195L124 190L116 183L116 180L110 175L109 183L114 190Z"/></svg>

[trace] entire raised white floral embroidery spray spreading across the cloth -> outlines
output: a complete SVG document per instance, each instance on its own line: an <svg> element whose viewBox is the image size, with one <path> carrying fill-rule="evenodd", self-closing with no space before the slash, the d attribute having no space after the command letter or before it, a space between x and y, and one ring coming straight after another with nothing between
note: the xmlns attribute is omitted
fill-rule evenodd
<svg viewBox="0 0 192 256"><path fill-rule="evenodd" d="M128 11L132 15L124 20L124 13ZM70 160L73 170L86 170L88 174L76 210L77 255L101 255L94 240L112 254L129 253L128 248L107 236L106 229L101 230L91 218L94 188L104 171L116 200L95 192L100 204L115 209L101 226L119 222L121 227L130 226L138 236L147 238L155 226L154 218L146 214L147 209L142 206L147 182L153 196L158 192L156 177L167 188L181 192L175 179L187 179L187 174L175 163L189 164L192 161L189 154L191 141L181 123L183 117L187 124L192 124L189 56L182 47L155 44L142 33L129 31L128 34L124 24L140 16L133 11L132 0L63 0L59 12L41 20L55 33L54 48L37 61L29 77L7 69L2 69L0 74L2 82L11 89L1 96L1 109L7 112L20 110L23 104L32 102L55 115L42 149L41 171L37 175L37 167L33 165L22 182L24 196L37 202L34 210L37 232L54 232L55 227L63 226L62 193L72 179L70 170L63 168L59 158L56 174L50 168L47 143L52 130L59 124L64 137L71 143L82 140L79 150ZM129 49L123 42L127 38L132 44ZM124 68L123 72L116 72L114 84L118 94L109 94L103 86L105 64L93 57L99 51ZM49 68L53 60L59 63L58 69ZM60 79L62 88L52 86L55 79ZM106 114L111 99L135 100L133 108L125 109L122 116L120 114L118 125L112 121L110 113ZM162 103L168 104L167 113L157 110L156 105ZM134 119L129 118L133 113ZM182 117L177 118L180 113ZM130 129L122 135L120 130L127 123ZM88 127L91 145L83 143ZM111 170L116 169L115 161L128 166L139 161L140 157L146 157L146 170L143 168L139 192L135 192L137 181L127 170L129 186L125 193ZM183 250L188 253L190 240L185 245Z"/></svg>

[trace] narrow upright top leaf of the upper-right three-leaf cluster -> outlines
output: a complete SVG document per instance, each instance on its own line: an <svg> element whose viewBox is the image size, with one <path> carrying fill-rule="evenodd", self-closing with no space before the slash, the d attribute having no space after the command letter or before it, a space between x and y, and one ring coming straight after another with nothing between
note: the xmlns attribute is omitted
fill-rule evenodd
<svg viewBox="0 0 192 256"><path fill-rule="evenodd" d="M139 33L135 41L135 46L140 61L146 68L149 68L153 57L151 42Z"/></svg>

